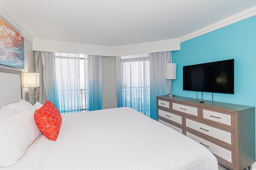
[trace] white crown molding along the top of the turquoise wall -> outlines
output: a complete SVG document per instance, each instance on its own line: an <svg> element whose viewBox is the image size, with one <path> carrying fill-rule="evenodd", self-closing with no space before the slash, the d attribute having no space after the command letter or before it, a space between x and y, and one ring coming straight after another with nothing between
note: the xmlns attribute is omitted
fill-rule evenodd
<svg viewBox="0 0 256 170"><path fill-rule="evenodd" d="M231 25L232 23L236 23L236 22L244 20L246 18L250 18L250 17L255 16L255 15L256 15L256 6L254 6L252 8L249 8L248 10L244 10L244 11L242 11L238 14L235 14L233 16L230 16L230 17L228 17L224 20L218 21L218 22L216 22L214 24L211 24L207 27L199 29L199 30L197 30L193 33L189 33L188 35L180 37L180 43L182 43L184 41L187 41L189 39L198 37L200 35L209 33L209 32L214 31L216 29L225 27L227 25Z"/></svg>

